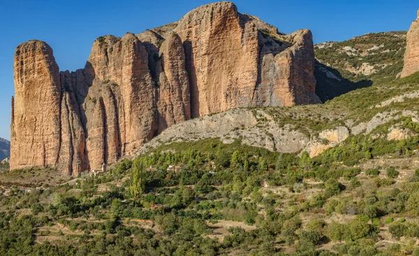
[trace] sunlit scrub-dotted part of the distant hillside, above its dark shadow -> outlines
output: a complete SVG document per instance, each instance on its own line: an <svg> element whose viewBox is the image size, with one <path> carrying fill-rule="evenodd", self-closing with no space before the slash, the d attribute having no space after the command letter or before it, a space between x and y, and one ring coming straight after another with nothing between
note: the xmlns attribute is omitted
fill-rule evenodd
<svg viewBox="0 0 419 256"><path fill-rule="evenodd" d="M316 45L316 59L339 71L352 82L395 80L402 71L406 49L406 32L368 33L344 42L330 42L326 47ZM374 66L372 74L358 73L363 63Z"/></svg>

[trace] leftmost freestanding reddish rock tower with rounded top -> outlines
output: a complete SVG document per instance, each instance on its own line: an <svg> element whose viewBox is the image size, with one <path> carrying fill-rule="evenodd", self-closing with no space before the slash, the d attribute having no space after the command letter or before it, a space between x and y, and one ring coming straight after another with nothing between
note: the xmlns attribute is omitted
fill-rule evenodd
<svg viewBox="0 0 419 256"><path fill-rule="evenodd" d="M15 52L10 169L55 166L60 150L59 70L52 49L31 40Z"/></svg>

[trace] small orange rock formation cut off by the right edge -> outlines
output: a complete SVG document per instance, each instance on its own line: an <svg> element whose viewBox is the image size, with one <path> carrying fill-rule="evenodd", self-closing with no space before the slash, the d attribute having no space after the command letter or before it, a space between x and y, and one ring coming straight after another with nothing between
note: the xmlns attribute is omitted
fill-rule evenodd
<svg viewBox="0 0 419 256"><path fill-rule="evenodd" d="M416 72L419 72L419 10L418 19L411 24L407 32L402 77L407 77Z"/></svg>

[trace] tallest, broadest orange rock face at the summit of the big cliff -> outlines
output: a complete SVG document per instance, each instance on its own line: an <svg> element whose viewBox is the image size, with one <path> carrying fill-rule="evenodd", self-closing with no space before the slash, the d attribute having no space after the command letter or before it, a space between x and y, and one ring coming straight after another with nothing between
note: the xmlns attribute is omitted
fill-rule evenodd
<svg viewBox="0 0 419 256"><path fill-rule="evenodd" d="M192 10L175 32L184 42L191 115L251 105L258 80L258 29L240 19L233 3Z"/></svg>

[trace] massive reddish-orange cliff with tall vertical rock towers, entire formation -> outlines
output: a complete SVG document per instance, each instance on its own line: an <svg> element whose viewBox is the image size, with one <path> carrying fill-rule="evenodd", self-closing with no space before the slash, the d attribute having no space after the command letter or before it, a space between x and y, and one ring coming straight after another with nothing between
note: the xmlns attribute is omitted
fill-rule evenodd
<svg viewBox="0 0 419 256"><path fill-rule="evenodd" d="M311 32L196 8L174 24L103 36L84 69L59 72L41 41L15 52L10 168L77 175L138 151L176 123L233 107L320 103Z"/></svg>

